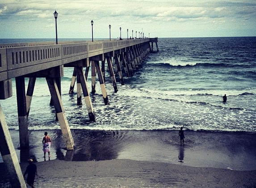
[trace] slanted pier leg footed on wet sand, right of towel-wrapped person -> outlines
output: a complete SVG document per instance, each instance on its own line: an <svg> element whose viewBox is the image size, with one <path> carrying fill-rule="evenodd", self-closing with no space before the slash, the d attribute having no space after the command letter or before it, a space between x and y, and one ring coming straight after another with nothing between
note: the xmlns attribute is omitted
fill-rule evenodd
<svg viewBox="0 0 256 188"><path fill-rule="evenodd" d="M46 81L50 90L52 101L55 106L55 111L59 120L59 125L62 131L63 139L66 143L66 147L68 150L73 150L75 144L67 122L67 117L65 115L56 80L55 78L46 78Z"/></svg>

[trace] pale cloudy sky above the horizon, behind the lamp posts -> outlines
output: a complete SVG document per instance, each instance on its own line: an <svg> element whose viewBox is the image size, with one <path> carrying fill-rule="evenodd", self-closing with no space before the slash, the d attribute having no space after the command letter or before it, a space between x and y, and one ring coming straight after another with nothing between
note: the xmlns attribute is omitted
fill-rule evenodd
<svg viewBox="0 0 256 188"><path fill-rule="evenodd" d="M256 0L0 0L0 38L55 38L55 10L58 38L256 36Z"/></svg>

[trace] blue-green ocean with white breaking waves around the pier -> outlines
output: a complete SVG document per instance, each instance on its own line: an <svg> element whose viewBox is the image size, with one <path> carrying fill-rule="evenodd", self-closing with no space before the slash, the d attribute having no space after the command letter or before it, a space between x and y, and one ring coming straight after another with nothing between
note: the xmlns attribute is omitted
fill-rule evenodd
<svg viewBox="0 0 256 188"><path fill-rule="evenodd" d="M96 94L91 94L96 122L89 121L84 101L82 106L76 105L76 86L75 93L68 94L73 69L64 68L61 97L70 128L77 134L77 130L176 131L180 127L185 131L256 134L256 37L159 38L158 47L159 53L148 54L133 77L124 77L125 85L121 86L116 76L117 93L106 71L109 105L104 105L97 80ZM91 90L91 74L88 87ZM226 103L222 102L224 94ZM13 97L0 101L13 131L18 130L16 100L13 80ZM49 103L46 80L37 78L29 131L59 132L54 106Z"/></svg>

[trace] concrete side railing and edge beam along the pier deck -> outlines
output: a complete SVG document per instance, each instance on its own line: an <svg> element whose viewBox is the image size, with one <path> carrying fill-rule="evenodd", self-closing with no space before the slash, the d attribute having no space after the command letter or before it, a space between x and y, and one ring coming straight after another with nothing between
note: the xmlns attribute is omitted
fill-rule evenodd
<svg viewBox="0 0 256 188"><path fill-rule="evenodd" d="M0 44L0 81L84 58L149 42L149 38L122 41L30 42Z"/></svg>

